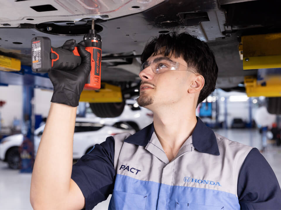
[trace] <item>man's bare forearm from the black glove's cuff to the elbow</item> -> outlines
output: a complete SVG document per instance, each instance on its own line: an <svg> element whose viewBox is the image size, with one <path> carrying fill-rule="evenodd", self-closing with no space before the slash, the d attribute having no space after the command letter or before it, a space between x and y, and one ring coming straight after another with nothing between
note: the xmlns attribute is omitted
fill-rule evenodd
<svg viewBox="0 0 281 210"><path fill-rule="evenodd" d="M33 207L59 207L68 195L76 110L77 107L51 103L32 172Z"/></svg>

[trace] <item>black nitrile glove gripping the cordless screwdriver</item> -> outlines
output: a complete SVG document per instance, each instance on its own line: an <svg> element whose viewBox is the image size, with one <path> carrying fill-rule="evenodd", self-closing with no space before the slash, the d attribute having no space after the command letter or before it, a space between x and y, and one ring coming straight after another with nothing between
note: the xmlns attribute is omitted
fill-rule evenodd
<svg viewBox="0 0 281 210"><path fill-rule="evenodd" d="M64 43L62 48L73 51L75 40L71 39ZM72 70L51 70L48 75L54 86L51 102L78 106L81 92L91 71L91 54L85 50L85 42L81 41L78 46L81 56L81 64Z"/></svg>

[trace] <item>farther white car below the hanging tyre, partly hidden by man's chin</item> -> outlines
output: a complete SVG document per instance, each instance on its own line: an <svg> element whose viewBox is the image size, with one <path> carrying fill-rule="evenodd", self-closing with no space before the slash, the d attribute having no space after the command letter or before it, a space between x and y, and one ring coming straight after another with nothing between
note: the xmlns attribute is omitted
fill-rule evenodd
<svg viewBox="0 0 281 210"><path fill-rule="evenodd" d="M98 122L101 124L126 122L127 124L131 125L131 127L137 132L153 122L153 112L147 108L138 106L138 103L134 99L126 99L124 110L118 117L100 118L92 113L91 109L88 108L86 111L86 118L91 118L94 120L94 122Z"/></svg>

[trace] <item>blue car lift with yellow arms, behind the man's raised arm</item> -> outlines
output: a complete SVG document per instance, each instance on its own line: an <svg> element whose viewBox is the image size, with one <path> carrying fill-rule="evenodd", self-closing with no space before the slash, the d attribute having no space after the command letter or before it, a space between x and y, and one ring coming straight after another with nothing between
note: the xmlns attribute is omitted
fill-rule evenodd
<svg viewBox="0 0 281 210"><path fill-rule="evenodd" d="M48 74L32 72L31 67L21 65L20 60L0 55L0 85L23 86L23 126L24 141L20 148L20 172L30 173L34 163L34 88L52 90L53 85ZM122 102L121 88L116 85L101 83L100 90L83 90L80 102L110 103ZM85 107L84 107L85 108Z"/></svg>

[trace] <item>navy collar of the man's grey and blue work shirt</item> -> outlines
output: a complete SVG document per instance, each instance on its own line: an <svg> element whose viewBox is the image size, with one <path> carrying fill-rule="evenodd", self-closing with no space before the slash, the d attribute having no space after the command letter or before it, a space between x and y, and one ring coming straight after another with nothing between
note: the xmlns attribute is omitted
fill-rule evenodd
<svg viewBox="0 0 281 210"><path fill-rule="evenodd" d="M202 122L198 117L196 126L192 133L192 142L196 150L202 153L209 153L213 155L220 155L219 148L217 146L217 138L212 129ZM146 126L142 130L129 136L124 142L133 143L139 146L146 146L151 139L154 132L153 123Z"/></svg>

